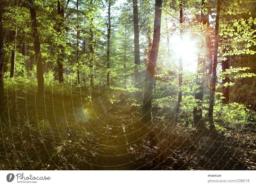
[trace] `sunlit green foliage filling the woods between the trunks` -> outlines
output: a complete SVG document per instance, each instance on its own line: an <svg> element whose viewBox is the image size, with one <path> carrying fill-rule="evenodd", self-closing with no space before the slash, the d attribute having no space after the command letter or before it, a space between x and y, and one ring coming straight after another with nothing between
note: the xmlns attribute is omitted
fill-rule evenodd
<svg viewBox="0 0 256 186"><path fill-rule="evenodd" d="M247 3L248 2L248 3ZM197 65L197 57L207 56L207 43L205 36L210 39L211 48L215 41L215 23L203 24L198 12L210 14L215 19L216 2L205 1L182 1L183 18L182 25L179 24L180 1L164 1L162 8L163 21L161 25L161 40L155 69L154 90L152 95L153 107L173 111L177 107L179 90L182 91L182 102L180 103L180 122L193 127L193 109L203 105L203 120L208 122L208 107L210 97L210 72L209 61ZM223 72L218 64L217 86L215 92L214 120L217 129L224 130L226 126L239 127L247 122L250 112L248 105L236 103L236 94L240 87L245 87L243 93L251 91L251 86L244 86L244 80L255 78L255 51L256 51L256 19L253 18L249 9L255 2L246 0L244 2L235 0L233 2L222 2L223 8L220 16L219 51L218 63L231 59L229 69ZM69 94L77 90L90 91L92 93L106 93L108 91L108 102L111 104L124 104L141 106L142 98L136 100L134 94L144 92L145 70L149 62L152 36L154 30L154 1L138 1L139 28L140 28L140 88L135 86L134 65L134 25L132 1L111 1L111 34L110 34L110 61L107 61L107 24L108 1L79 1L78 10L76 1L69 4L61 1L64 15L57 12L57 2L53 0L35 1L34 7L37 13L38 35L40 39L41 55L44 67L44 85L46 92L53 94ZM224 9L225 7L225 9ZM34 37L31 30L31 18L28 7L17 6L11 2L3 4L4 18L3 30L17 30L16 43L6 39L4 43L4 89L8 91L34 92L37 86L36 60L34 51ZM172 36L183 36L196 42L195 58L188 59L191 66L197 69L183 68L183 81L179 87L179 55L174 50L175 42ZM26 37L25 37L26 34ZM91 38L92 37L92 38ZM169 41L169 43L168 43ZM22 43L27 44L27 56L22 56ZM15 48L16 44L16 48ZM91 48L92 47L92 48ZM181 46L181 48L184 46ZM15 79L10 76L11 51L16 51ZM91 51L92 50L92 51ZM181 52L182 53L182 52ZM77 55L78 54L78 55ZM187 54L183 51L183 57ZM250 57L250 63L247 61ZM208 58L208 57L207 57ZM24 60L32 69L25 69ZM58 61L57 61L58 60ZM64 82L59 83L58 62L63 65ZM185 61L183 61L185 63ZM252 63L251 63L252 62ZM107 68L109 63L110 68ZM204 66L205 64L205 66ZM208 65L208 66L207 66ZM189 67L190 68L190 67ZM205 70L197 73L196 70ZM77 71L80 72L80 83L78 83ZM93 84L91 84L91 71ZM110 86L106 87L107 73L110 74ZM229 77L229 82L222 85L221 80ZM199 86L196 80L204 80L204 99L202 102L195 99ZM249 83L247 83L249 84ZM231 103L223 104L222 88L230 87ZM250 93L251 96L251 93ZM252 95L253 97L254 95ZM142 96L143 97L143 96ZM246 96L245 96L246 97ZM245 98L246 99L246 98ZM92 97L86 97L88 103ZM234 103L233 103L234 101ZM237 101L238 102L238 101ZM170 114L170 112L169 112ZM158 119L164 120L159 116Z"/></svg>

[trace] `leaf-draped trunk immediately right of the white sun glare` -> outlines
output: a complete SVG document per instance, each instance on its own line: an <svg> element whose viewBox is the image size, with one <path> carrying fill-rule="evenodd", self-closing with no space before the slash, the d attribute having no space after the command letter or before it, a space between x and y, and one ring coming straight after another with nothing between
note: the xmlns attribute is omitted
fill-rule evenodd
<svg viewBox="0 0 256 186"><path fill-rule="evenodd" d="M205 9L206 7L207 6L205 5L204 0L202 0L201 22L204 25L208 24L207 27L209 27L209 16L208 16L208 14L204 14L204 12L203 12L203 9ZM208 39L210 39L210 38L208 38L208 35L207 35L206 40L208 40ZM206 41L207 49L208 49L209 42L210 42L210 40ZM208 52L208 50L207 50L207 52ZM210 58L209 55L207 55L207 56L208 56L208 58ZM210 61L211 61L211 59L210 59ZM202 68L199 68L200 65L203 65ZM202 117L203 117L202 106L203 106L203 98L204 98L204 65L205 65L205 57L202 58L202 57L200 57L200 54L199 54L198 59L197 59L197 68L198 68L197 74L200 74L200 76L202 75L202 78L199 77L198 75L196 76L196 85L198 86L198 89L196 89L195 99L197 102L197 107L195 107L193 110L194 125L198 129L201 129L204 126L204 123L202 121Z"/></svg>

